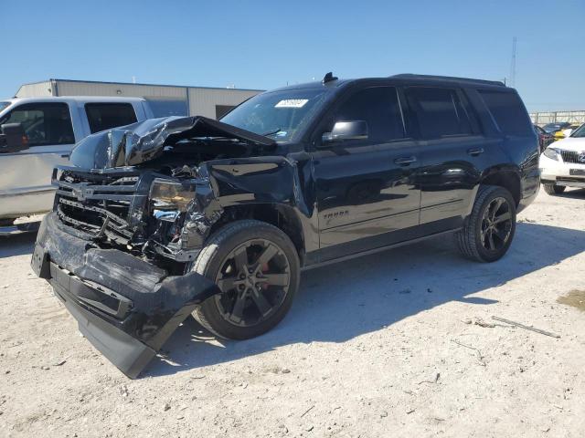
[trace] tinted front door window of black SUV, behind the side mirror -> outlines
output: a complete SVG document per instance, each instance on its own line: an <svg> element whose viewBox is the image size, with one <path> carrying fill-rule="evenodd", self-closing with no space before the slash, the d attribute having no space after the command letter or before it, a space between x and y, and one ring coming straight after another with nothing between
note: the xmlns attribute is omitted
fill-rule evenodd
<svg viewBox="0 0 585 438"><path fill-rule="evenodd" d="M335 121L351 120L367 122L368 143L404 138L399 99L394 87L356 91L335 111Z"/></svg>

